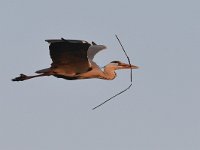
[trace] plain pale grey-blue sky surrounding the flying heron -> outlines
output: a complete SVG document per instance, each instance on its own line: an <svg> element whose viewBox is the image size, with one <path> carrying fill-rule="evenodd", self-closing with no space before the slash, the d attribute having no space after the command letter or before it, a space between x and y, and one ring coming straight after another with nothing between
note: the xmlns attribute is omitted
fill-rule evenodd
<svg viewBox="0 0 200 150"><path fill-rule="evenodd" d="M198 0L1 0L1 150L200 149ZM95 61L133 64L113 81L43 77L45 39L83 39L108 48Z"/></svg>

